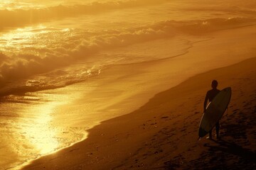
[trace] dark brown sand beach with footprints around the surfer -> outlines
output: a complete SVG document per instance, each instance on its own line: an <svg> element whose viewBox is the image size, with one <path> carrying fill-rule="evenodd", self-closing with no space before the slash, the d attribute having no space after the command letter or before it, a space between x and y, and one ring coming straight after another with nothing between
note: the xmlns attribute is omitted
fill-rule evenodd
<svg viewBox="0 0 256 170"><path fill-rule="evenodd" d="M137 111L106 120L87 140L24 169L255 169L256 58L198 74L156 94ZM220 140L198 140L210 81L231 86ZM213 130L214 134L214 130Z"/></svg>

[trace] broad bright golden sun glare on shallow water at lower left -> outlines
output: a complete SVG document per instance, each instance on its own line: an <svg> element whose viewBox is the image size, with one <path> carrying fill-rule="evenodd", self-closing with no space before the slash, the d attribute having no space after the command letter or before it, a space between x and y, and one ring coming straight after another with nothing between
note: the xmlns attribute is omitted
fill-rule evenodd
<svg viewBox="0 0 256 170"><path fill-rule="evenodd" d="M36 96L28 94L25 97L27 101L31 101L30 109L24 111L23 117L18 121L18 127L21 127L19 133L23 135L24 147L30 149L28 152L36 155L55 152L71 145L75 140L80 140L84 135L78 135L79 130L72 134L69 127L75 125L65 124L66 120L71 119L69 116L73 118L73 115L67 114L69 110L63 113L61 107L68 106L80 96L76 91L65 94L64 91L67 90L68 87L59 89L57 94L49 90L38 92Z"/></svg>

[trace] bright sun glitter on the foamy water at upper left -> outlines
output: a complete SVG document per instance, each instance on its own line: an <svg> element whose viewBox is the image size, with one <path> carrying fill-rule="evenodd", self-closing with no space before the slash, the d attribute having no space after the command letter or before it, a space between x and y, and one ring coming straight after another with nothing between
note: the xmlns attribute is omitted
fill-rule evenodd
<svg viewBox="0 0 256 170"><path fill-rule="evenodd" d="M7 55L54 53L56 49L62 49L68 38L73 38L73 28L53 28L42 24L17 28L0 35L0 50Z"/></svg>

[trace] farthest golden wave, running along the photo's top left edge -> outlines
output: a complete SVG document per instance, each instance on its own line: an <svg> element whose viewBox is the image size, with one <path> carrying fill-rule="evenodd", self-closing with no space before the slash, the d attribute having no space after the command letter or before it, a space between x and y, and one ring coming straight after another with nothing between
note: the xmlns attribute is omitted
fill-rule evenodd
<svg viewBox="0 0 256 170"><path fill-rule="evenodd" d="M0 10L0 30L9 27L24 26L31 23L49 21L78 15L97 14L107 11L122 10L139 6L150 6L164 3L166 0L129 0L129 1L103 1L91 4L58 5L47 8L4 9Z"/></svg>

